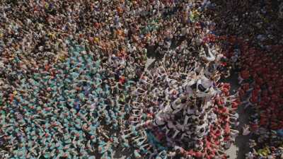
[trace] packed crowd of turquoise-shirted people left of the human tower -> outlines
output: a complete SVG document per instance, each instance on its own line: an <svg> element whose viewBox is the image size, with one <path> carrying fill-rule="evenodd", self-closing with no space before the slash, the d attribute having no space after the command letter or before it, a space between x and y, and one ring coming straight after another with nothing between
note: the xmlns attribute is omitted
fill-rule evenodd
<svg viewBox="0 0 283 159"><path fill-rule="evenodd" d="M18 146L11 152L13 158L93 158L89 154L97 150L107 157L117 143L117 136L104 136L113 139L110 144L101 139L104 132L100 126L119 129L119 121L129 111L122 102L130 83L120 83L123 92L112 93L120 91L107 82L115 76L103 69L98 55L66 43L69 57L64 61L30 78L18 74L20 82L13 98L1 109L1 131L7 135L4 142L10 148ZM120 59L105 64L115 62L122 66ZM26 92L28 89L33 91ZM47 98L42 98L42 93Z"/></svg>

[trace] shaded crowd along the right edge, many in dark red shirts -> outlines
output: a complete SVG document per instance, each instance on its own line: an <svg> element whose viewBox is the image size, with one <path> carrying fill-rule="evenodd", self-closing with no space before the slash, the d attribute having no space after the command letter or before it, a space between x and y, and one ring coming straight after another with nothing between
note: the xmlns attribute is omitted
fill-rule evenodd
<svg viewBox="0 0 283 159"><path fill-rule="evenodd" d="M238 95L250 112L243 132L251 133L248 159L283 158L282 5L227 1L217 11L221 29L216 30L223 34L224 54L238 71Z"/></svg>

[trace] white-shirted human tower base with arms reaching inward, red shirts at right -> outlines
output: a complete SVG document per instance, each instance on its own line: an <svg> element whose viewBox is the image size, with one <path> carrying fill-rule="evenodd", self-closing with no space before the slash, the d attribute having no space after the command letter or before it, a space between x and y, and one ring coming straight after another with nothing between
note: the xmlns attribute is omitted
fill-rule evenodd
<svg viewBox="0 0 283 159"><path fill-rule="evenodd" d="M159 62L145 71L132 95L130 128L136 153L158 156L224 154L238 131L231 129L233 101L227 83L208 65L190 69ZM127 132L126 132L127 133ZM216 150L216 151L215 151ZM174 152L174 153L173 153ZM196 157L196 156L195 156Z"/></svg>

